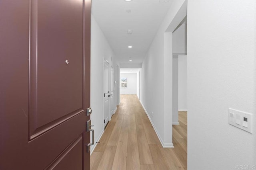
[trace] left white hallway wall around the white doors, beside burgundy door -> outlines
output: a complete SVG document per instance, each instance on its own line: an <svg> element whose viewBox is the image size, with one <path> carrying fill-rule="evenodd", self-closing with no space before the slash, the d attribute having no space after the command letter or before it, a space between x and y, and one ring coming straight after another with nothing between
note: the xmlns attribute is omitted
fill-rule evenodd
<svg viewBox="0 0 256 170"><path fill-rule="evenodd" d="M103 104L103 85L104 72L103 62L104 58L110 62L110 66L114 68L114 80L116 80L116 59L115 55L108 44L104 34L102 33L98 23L95 21L93 15L91 17L91 120L94 125L94 139L95 142L100 139L104 132L104 104ZM111 61L112 58L112 61ZM114 84L114 89L116 89ZM114 101L116 101L116 91L114 92ZM114 106L116 108L116 106ZM91 136L92 139L92 136ZM91 152L95 145L91 147Z"/></svg>

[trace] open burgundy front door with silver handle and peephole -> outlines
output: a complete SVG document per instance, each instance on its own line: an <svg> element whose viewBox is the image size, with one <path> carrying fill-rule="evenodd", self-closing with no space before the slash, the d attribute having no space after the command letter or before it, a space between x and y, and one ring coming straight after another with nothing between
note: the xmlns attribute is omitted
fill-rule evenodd
<svg viewBox="0 0 256 170"><path fill-rule="evenodd" d="M0 170L89 170L90 0L0 0Z"/></svg>

